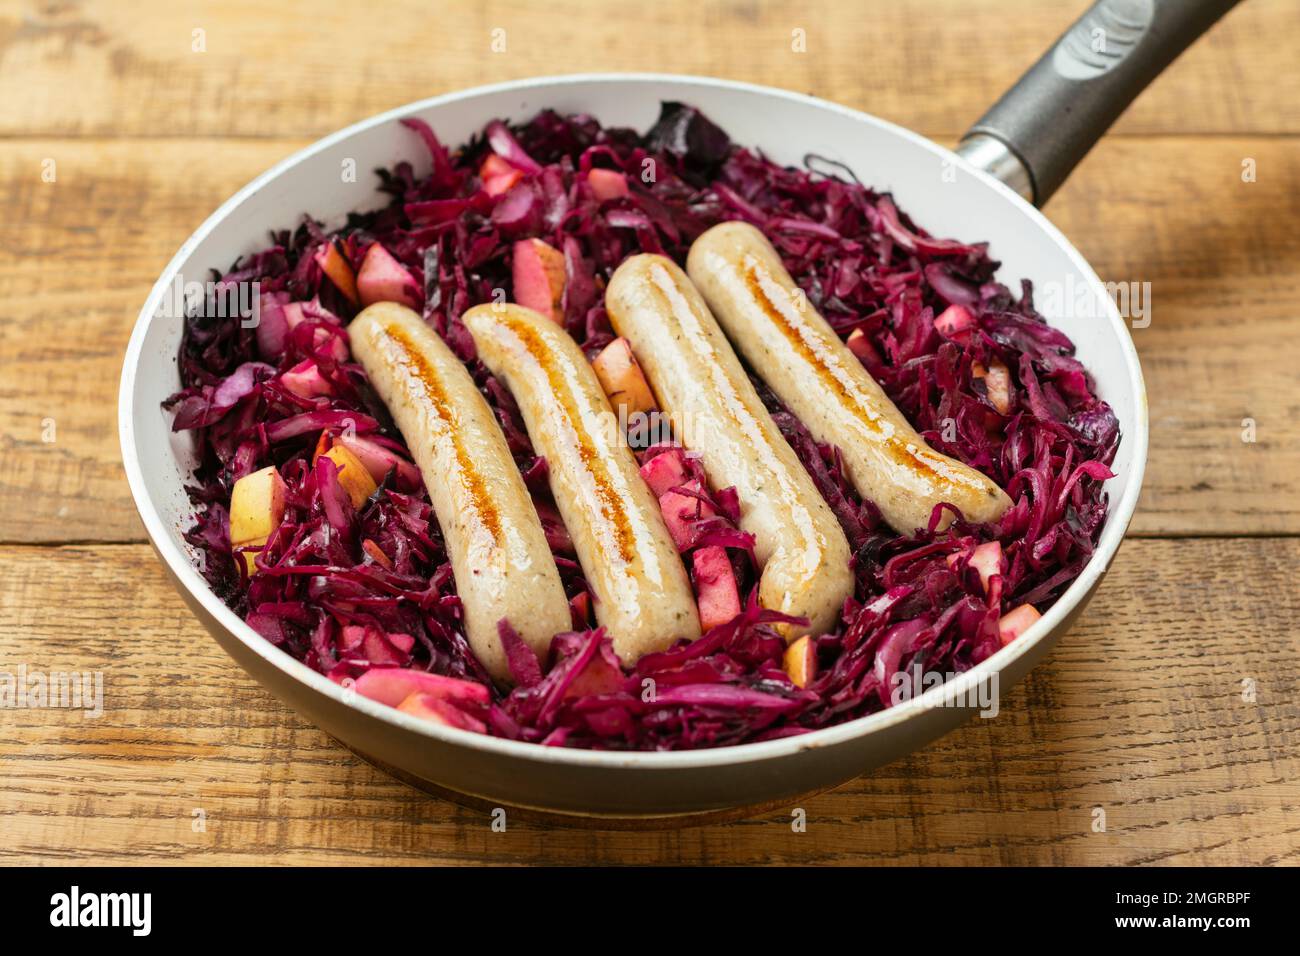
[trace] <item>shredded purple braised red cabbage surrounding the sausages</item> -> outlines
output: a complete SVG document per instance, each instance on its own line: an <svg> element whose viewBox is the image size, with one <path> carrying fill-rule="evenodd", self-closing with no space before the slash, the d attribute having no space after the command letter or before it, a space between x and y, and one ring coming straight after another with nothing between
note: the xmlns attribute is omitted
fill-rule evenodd
<svg viewBox="0 0 1300 956"><path fill-rule="evenodd" d="M1015 295L998 284L983 243L928 235L892 196L816 157L806 168L779 166L732 144L684 104L664 104L645 135L547 111L519 127L493 121L455 151L426 124L406 125L429 151L428 176L407 163L377 170L385 208L352 215L334 233L304 219L213 277L259 282L259 329L202 312L185 324L182 390L168 407L177 431L192 431L199 454L186 538L203 555L216 593L285 653L337 680L403 667L490 687L460 630L428 496L411 480L402 436L347 354L346 321L358 308L346 281L335 285L322 268L326 243L355 272L380 242L416 280L424 317L467 362L500 418L572 598L575 630L556 635L546 659L502 624L517 683L491 688L490 734L549 745L680 749L848 721L888 706L900 671L978 665L1000 646L1002 613L1020 604L1045 610L1088 561L1106 516L1101 481L1110 476L1118 423L1069 338L1035 311L1030 285ZM498 194L480 176L489 155L508 173L508 189ZM597 168L625 174L627 195L597 199L586 178ZM733 219L771 238L842 336L861 333L854 351L926 440L993 477L1014 502L994 524L958 515L941 533L896 535L858 497L837 450L814 441L759 385L854 551L854 597L840 626L815 639L818 670L805 688L783 667L785 645L772 630L781 618L755 602L734 489L701 493L707 516L692 544L729 549L749 594L744 610L693 644L650 654L632 670L619 666L592 627L590 596L549 499L545 462L534 457L510 394L474 359L460 323L493 290L510 291L511 243L536 237L564 255L564 326L594 355L612 338L602 293L624 258L662 252L682 263L699 233ZM972 321L962 316L968 328L945 337L935 317L953 304ZM295 367L311 382L306 398L303 386L286 388ZM381 470L396 462L359 510L333 463L312 462L322 431L364 442ZM280 468L289 501L266 544L251 549L259 570L250 578L233 559L228 503L235 480L268 464ZM985 592L968 559L987 541L1001 544L1002 567Z"/></svg>

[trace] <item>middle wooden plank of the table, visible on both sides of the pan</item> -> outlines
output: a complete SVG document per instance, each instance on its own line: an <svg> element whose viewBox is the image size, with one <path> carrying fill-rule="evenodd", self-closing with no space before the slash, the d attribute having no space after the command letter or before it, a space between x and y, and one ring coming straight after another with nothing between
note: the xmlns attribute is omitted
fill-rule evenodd
<svg viewBox="0 0 1300 956"><path fill-rule="evenodd" d="M1134 330L1152 415L1136 533L1300 532L1297 142L1109 139L1048 208L1102 278L1152 284L1150 325ZM300 144L62 139L0 153L12 209L0 220L0 541L142 540L114 419L135 313L203 217ZM53 183L40 181L47 157ZM1247 157L1253 183L1240 178ZM1254 444L1242 441L1248 418Z"/></svg>

